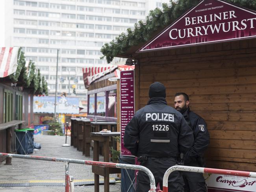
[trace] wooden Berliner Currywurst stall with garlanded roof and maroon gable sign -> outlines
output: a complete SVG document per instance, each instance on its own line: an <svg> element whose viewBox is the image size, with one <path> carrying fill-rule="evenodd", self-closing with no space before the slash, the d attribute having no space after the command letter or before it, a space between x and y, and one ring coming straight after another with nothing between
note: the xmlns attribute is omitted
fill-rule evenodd
<svg viewBox="0 0 256 192"><path fill-rule="evenodd" d="M183 1L173 3L173 7L181 6L180 2ZM206 120L210 132L210 146L205 154L207 167L256 171L256 7L247 5L254 9L249 10L217 0L187 3L186 6L183 4L185 7L178 9L183 10L182 17L171 15L173 23L169 22L170 26L163 30L164 24L159 24L158 30L152 33L146 31L150 33L150 39L156 35L150 41L142 40L141 37L138 40L140 43L122 47L126 48L126 52L118 52L115 46L110 45L103 47L102 53L105 53L109 61L114 56L133 59L136 110L147 105L148 87L155 81L165 85L168 105L174 106L176 92L186 92L189 95L191 110ZM191 8L192 5L195 7ZM128 30L126 36L121 34L117 42L121 44L123 41L129 41L128 39L135 39L137 36L134 34L141 31L145 33L147 27L156 28L152 24L154 19L163 17L165 9L171 12L173 7L168 9L163 6L162 13L157 16L155 13L158 12L155 10L155 15L147 17L147 24L135 24L135 30ZM212 7L215 7L214 10ZM198 10L202 13L198 13ZM209 13L204 12L206 10ZM212 36L202 33L201 35L199 30L197 33L190 33L190 37L188 35L187 39L185 38L186 41L178 38L177 28L180 27L182 31L184 28L202 28L203 25L207 26L204 24L206 20L203 22L204 15L215 16L215 13L226 20L217 19L216 16L217 21L209 20L207 24L220 26L219 23L237 23L237 28L230 30L230 39L225 39L226 33L222 31L223 33L213 34L217 37L211 40ZM225 18L221 14L231 15ZM240 18L241 16L243 18ZM243 22L246 22L247 28L242 28L241 19L245 19ZM141 27L136 28L138 25ZM171 31L172 29L174 31ZM171 40L170 35L173 35ZM218 42L218 38L225 40ZM109 57L112 51L118 54Z"/></svg>

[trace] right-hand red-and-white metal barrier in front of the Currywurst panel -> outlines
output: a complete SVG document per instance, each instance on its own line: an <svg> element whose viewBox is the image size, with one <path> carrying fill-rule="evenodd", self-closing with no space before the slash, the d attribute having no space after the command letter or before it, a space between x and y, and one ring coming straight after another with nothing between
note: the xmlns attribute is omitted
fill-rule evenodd
<svg viewBox="0 0 256 192"><path fill-rule="evenodd" d="M256 178L256 172L246 172L246 171L235 171L235 170L225 170L225 169L213 169L204 167L192 167L192 166L181 166L175 165L166 170L163 176L163 190L158 190L158 192L168 192L168 177L174 171L186 171L186 172L197 172L197 173L209 173L209 174L222 174L222 175L235 175L242 177L254 177Z"/></svg>

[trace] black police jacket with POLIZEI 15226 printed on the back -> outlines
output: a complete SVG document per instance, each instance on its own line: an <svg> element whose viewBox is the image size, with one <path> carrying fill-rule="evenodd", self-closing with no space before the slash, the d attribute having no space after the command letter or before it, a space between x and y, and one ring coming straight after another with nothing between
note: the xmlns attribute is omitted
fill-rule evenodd
<svg viewBox="0 0 256 192"><path fill-rule="evenodd" d="M193 143L193 131L182 114L162 97L151 98L136 111L124 132L124 147L135 156L177 157Z"/></svg>

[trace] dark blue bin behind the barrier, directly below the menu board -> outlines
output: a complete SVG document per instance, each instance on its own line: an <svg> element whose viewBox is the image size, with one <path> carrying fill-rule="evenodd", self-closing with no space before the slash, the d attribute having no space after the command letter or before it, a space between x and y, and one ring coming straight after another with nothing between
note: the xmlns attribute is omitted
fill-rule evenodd
<svg viewBox="0 0 256 192"><path fill-rule="evenodd" d="M124 164L135 164L134 157L120 156L119 162ZM135 191L135 170L121 169L121 191Z"/></svg>

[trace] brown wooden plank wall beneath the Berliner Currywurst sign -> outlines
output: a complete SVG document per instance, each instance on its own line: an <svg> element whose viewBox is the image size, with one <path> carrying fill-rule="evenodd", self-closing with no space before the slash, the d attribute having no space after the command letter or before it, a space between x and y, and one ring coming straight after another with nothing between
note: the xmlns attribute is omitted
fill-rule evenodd
<svg viewBox="0 0 256 192"><path fill-rule="evenodd" d="M256 38L138 56L139 106L154 81L166 86L167 103L186 92L191 110L210 132L207 166L256 171Z"/></svg>

